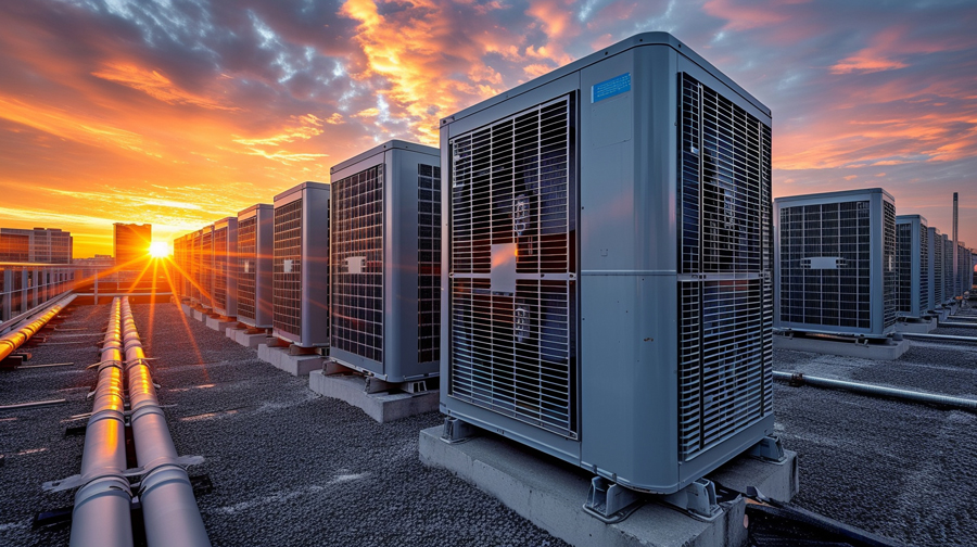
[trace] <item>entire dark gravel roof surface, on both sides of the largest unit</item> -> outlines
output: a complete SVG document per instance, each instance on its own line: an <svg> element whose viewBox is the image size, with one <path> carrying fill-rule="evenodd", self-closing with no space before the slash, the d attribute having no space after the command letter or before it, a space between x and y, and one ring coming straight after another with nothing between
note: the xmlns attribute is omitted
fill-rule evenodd
<svg viewBox="0 0 977 547"><path fill-rule="evenodd" d="M177 451L203 456L190 474L214 484L198 504L215 546L566 545L420 463L418 432L437 412L378 424L178 306L134 313ZM84 437L64 428L85 420L65 420L91 410L96 376L85 366L106 319L104 305L74 306L29 361L74 365L0 372L0 405L67 399L0 412L0 545L67 545L67 526L34 531L31 519L72 503L40 484L80 468ZM774 368L977 398L977 344L913 342L896 361L777 349ZM774 391L776 429L799 454L798 506L908 545L977 545L977 415L782 382Z"/></svg>

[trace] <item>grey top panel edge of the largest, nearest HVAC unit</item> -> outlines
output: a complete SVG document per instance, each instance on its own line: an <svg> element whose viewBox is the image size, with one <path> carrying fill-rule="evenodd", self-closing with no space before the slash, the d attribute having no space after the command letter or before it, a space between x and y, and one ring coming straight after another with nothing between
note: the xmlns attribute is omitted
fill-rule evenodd
<svg viewBox="0 0 977 547"><path fill-rule="evenodd" d="M702 59L702 56L700 56L698 53L693 51L691 48L689 48L688 46L686 46L685 43L680 41L677 38L675 38L671 34L669 34L669 33L642 33L642 34L634 35L631 38L625 38L624 40L621 40L618 43L614 43L613 46L609 46L599 51L591 53L589 55L587 55L583 59L578 59L576 61L574 61L563 67L557 68L556 71L553 71L549 74L545 74L543 76L540 76L538 78L526 81L525 84L516 86L515 88L512 88L504 93L499 93L499 94L493 97L492 99L488 99L488 100L482 101L478 104L474 104L472 106L469 106L462 111L455 113L452 116L442 118L441 125L443 127L453 122L457 122L457 120L459 120L464 117L470 116L479 111L483 111L494 104L498 104L502 101L505 101L512 97L525 93L526 91L535 89L540 86L544 86L556 79L562 78L563 76L567 76L568 74L572 74L572 73L580 71L586 66L589 66L594 63L599 63L601 60L604 60L606 58L617 55L618 53L627 51L633 48L649 47L649 46L650 47L665 46L665 47L672 48L677 53L682 54L683 56L685 56L693 63L699 65L702 69L705 69L706 72L708 72L709 74L711 74L712 76L718 78L720 81L722 81L723 84L728 86L729 89L735 91L737 94L743 97L745 100L749 101L754 106L757 106L761 112L764 112L767 116L771 115L771 111L770 111L770 109L766 107L766 105L764 105L762 102L760 102L756 97L751 96L745 89L739 87L739 85L737 85L735 81L729 79L725 74L720 72L719 68L713 66L709 61L706 61L705 59Z"/></svg>

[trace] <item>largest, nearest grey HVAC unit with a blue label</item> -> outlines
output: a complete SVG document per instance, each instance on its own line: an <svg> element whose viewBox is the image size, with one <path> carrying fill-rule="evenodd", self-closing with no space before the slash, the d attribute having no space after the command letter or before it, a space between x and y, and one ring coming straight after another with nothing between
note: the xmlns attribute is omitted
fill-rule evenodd
<svg viewBox="0 0 977 547"><path fill-rule="evenodd" d="M665 33L444 118L448 423L652 493L770 434L770 125Z"/></svg>

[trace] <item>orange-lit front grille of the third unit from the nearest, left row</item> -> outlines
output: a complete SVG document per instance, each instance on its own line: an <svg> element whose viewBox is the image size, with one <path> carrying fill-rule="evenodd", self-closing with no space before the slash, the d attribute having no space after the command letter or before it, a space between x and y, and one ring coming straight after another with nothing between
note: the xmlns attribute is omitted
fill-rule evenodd
<svg viewBox="0 0 977 547"><path fill-rule="evenodd" d="M302 200L275 207L272 327L302 335Z"/></svg>

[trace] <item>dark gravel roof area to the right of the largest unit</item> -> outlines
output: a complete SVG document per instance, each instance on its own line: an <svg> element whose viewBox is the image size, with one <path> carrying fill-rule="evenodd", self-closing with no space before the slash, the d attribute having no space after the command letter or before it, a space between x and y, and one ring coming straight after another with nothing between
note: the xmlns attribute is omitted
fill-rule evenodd
<svg viewBox="0 0 977 547"><path fill-rule="evenodd" d="M893 361L777 349L774 370L977 398L977 344L912 341ZM782 382L774 412L798 506L908 545L977 545L974 412Z"/></svg>

